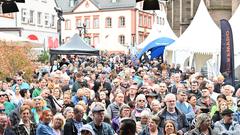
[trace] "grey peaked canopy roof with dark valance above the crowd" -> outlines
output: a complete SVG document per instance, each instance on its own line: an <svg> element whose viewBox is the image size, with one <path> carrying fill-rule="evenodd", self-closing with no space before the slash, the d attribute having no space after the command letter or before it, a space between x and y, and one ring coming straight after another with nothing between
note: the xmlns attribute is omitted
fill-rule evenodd
<svg viewBox="0 0 240 135"><path fill-rule="evenodd" d="M99 55L99 50L89 46L78 34L58 48L50 49L50 54Z"/></svg>

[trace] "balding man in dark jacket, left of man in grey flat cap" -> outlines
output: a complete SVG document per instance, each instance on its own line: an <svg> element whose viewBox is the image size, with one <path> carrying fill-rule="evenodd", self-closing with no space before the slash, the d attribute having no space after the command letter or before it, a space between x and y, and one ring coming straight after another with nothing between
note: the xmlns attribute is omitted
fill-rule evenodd
<svg viewBox="0 0 240 135"><path fill-rule="evenodd" d="M63 135L78 135L81 127L87 122L83 119L84 108L76 105L73 109L73 118L67 119Z"/></svg>

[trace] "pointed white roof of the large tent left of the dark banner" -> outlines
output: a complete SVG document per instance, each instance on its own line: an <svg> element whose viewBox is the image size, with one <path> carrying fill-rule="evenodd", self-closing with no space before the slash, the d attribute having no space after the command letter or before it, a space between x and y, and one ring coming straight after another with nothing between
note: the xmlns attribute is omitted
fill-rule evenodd
<svg viewBox="0 0 240 135"><path fill-rule="evenodd" d="M185 51L202 54L220 52L221 33L212 20L208 10L201 0L198 10L190 26L166 50Z"/></svg>

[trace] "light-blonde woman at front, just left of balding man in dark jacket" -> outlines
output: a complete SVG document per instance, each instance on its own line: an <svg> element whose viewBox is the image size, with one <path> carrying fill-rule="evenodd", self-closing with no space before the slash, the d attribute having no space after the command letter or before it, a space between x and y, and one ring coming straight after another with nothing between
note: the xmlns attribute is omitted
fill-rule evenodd
<svg viewBox="0 0 240 135"><path fill-rule="evenodd" d="M65 123L65 118L62 114L57 113L53 117L52 128L55 135L63 135L62 130Z"/></svg>

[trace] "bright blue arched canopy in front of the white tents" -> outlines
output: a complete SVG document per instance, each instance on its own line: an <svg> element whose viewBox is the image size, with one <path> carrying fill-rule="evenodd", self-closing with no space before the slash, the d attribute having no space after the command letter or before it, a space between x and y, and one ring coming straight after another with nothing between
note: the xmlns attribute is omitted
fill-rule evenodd
<svg viewBox="0 0 240 135"><path fill-rule="evenodd" d="M141 52L138 54L138 59L140 59L141 56L147 51L151 51L151 59L158 58L159 56L163 55L165 46L172 44L174 41L175 40L167 37L158 38L150 42L141 50Z"/></svg>

